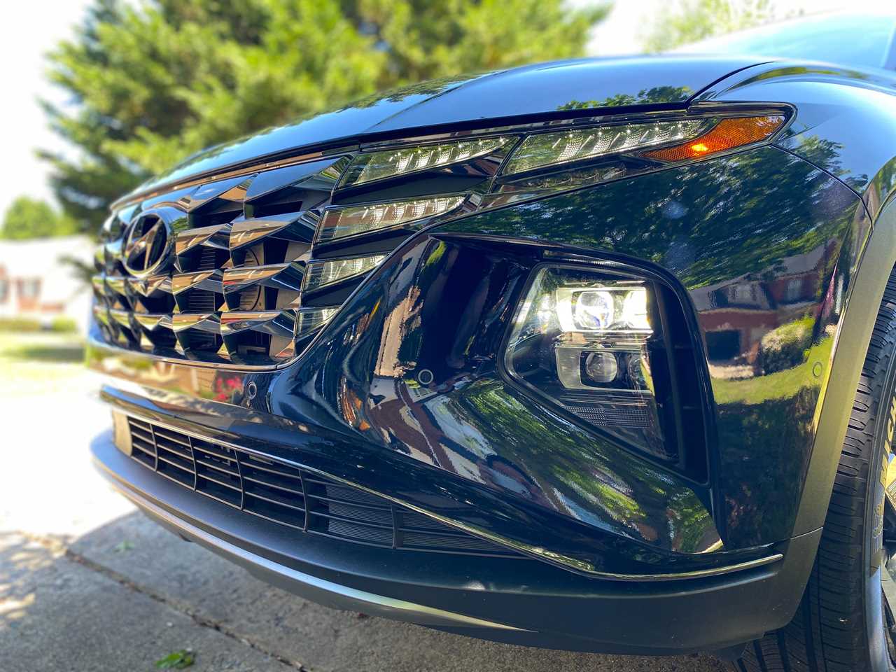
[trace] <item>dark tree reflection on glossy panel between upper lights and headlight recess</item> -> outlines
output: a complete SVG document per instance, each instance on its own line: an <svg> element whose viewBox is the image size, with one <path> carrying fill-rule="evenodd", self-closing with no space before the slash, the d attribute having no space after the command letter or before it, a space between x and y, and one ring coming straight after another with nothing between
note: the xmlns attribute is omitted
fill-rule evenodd
<svg viewBox="0 0 896 672"><path fill-rule="evenodd" d="M854 196L822 171L769 147L527 203L452 228L632 254L665 266L694 289L840 238L849 225L843 214L848 199Z"/></svg>

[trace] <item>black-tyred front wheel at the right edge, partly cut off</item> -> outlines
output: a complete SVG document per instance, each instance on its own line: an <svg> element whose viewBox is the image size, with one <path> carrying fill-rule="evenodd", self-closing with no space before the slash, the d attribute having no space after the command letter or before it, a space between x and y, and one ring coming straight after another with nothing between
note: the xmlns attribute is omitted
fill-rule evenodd
<svg viewBox="0 0 896 672"><path fill-rule="evenodd" d="M787 627L746 647L733 663L738 672L896 670L894 428L896 271L874 323L806 592Z"/></svg>

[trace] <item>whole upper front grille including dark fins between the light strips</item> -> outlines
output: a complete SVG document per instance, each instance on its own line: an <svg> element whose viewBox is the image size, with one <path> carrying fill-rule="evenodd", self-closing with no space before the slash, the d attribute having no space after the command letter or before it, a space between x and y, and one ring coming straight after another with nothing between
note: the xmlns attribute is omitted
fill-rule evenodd
<svg viewBox="0 0 896 672"><path fill-rule="evenodd" d="M458 192L472 203L487 193L508 150L411 177L340 187L356 148L125 207L108 220L95 258L93 312L102 339L222 365L272 366L294 358L369 272L365 267L303 291L307 263L381 261L414 231L450 216L314 242L328 207ZM470 203L459 211L474 208Z"/></svg>

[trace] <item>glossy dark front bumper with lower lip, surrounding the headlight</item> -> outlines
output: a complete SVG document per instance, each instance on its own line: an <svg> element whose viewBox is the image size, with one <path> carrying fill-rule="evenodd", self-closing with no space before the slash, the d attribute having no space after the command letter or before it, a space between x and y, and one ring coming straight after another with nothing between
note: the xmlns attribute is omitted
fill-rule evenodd
<svg viewBox="0 0 896 672"><path fill-rule="evenodd" d="M783 177L803 191L771 188ZM767 217L707 207L735 178L762 189ZM810 249L817 202L827 242ZM108 441L94 452L116 487L182 536L335 607L564 649L663 654L745 642L788 623L814 559L819 530L794 521L826 384L814 360L827 351L787 369L784 387L755 362L746 372L737 363L797 311L816 315L815 332L831 339L840 313L824 307L822 290L843 286L832 269L854 267L836 241L859 226L860 205L832 178L767 147L426 229L289 366L194 366L90 341L91 366L117 379L103 396L121 412L418 513L449 511L456 529L533 559L424 557L311 538L185 491ZM755 245L772 225L802 242ZM498 353L511 309L537 263L571 254L576 263L661 262L668 286L693 308L692 331L713 347L711 358L701 345L702 359L716 362L703 376L712 385L703 400L705 481L507 384ZM812 281L797 304L762 298L783 287L781 273L804 267L800 277ZM744 351L717 366L732 332Z"/></svg>

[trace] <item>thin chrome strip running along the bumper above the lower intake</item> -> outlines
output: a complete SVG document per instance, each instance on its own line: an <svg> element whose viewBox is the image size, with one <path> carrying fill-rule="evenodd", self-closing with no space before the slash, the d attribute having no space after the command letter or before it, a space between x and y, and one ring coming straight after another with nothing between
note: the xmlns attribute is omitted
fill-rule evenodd
<svg viewBox="0 0 896 672"><path fill-rule="evenodd" d="M191 431L189 429L185 429L182 426L172 425L170 423L165 422L164 420L159 420L158 418L149 418L147 416L142 416L139 413L134 413L132 409L119 409L113 401L109 401L108 399L103 399L108 406L115 408L118 412L124 413L129 418L136 418L138 420L142 420L143 422L168 427L168 429L180 432L181 434L190 435L194 438L200 439L201 441L209 441L211 443L221 444L237 451L248 452L252 455L257 455L261 458L269 458L264 452L254 450L252 448L246 448L245 446L239 444L233 444L228 441L224 441L220 438L211 438L209 436L203 436L195 431ZM780 560L784 559L784 554L782 553L774 553L771 556L764 556L760 558L756 558L754 560L747 560L742 563L736 564L726 564L719 567L711 567L708 569L699 569L693 570L690 572L679 572L679 573L657 573L657 574L625 574L625 573L611 573L611 572L600 572L596 570L591 565L586 565L579 560L575 560L573 558L567 558L560 554L554 553L547 548L540 547L530 547L525 544L521 544L520 542L514 541L513 539L504 538L501 535L494 534L492 532L488 532L487 530L481 530L475 526L467 525L458 521L453 521L450 518L445 518L443 515L438 513L432 513L426 511L426 509L420 508L416 504L409 504L401 499L396 497L392 497L390 495L383 495L381 492L377 492L369 487L365 487L359 485L358 483L354 483L346 478L340 478L338 476L333 476L325 471L317 470L311 467L307 467L300 462L289 460L289 458L283 458L278 456L276 458L278 461L282 461L285 464L289 464L296 469L306 470L308 472L318 474L323 476L324 478L330 478L337 483L343 483L349 487L358 488L358 490L362 490L370 495L375 495L378 497L382 497L383 499L388 499L395 504L401 504L405 508L410 509L411 511L420 513L429 518L432 518L436 521L440 521L449 527L455 528L457 530L462 530L467 532L468 534L473 535L474 537L485 538L489 541L494 542L495 544L499 544L504 547L513 548L514 550L520 551L521 553L526 554L527 556L534 557L537 560L541 560L543 562L547 562L548 564L554 564L556 566L562 567L567 570L571 570L576 573L582 573L585 576L592 576L594 578L599 579L608 579L611 581L625 581L625 582L662 582L662 581L685 581L688 579L705 579L713 576L720 576L723 574L735 573L735 572L744 572L748 569L756 569L758 567L764 567L769 564L774 564L780 562Z"/></svg>

